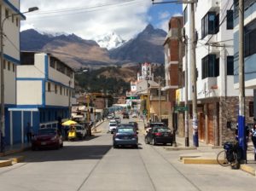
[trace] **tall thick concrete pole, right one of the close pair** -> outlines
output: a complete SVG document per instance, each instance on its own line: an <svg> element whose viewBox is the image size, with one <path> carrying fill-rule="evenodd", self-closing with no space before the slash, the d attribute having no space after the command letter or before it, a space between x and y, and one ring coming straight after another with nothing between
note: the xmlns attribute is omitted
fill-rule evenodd
<svg viewBox="0 0 256 191"><path fill-rule="evenodd" d="M192 2L192 1L191 1ZM191 10L191 51L190 51L190 58L191 58L191 82L192 82L192 107L193 107L193 143L195 147L198 147L198 119L197 119L197 87L196 87L196 62L195 62L195 3L190 4Z"/></svg>

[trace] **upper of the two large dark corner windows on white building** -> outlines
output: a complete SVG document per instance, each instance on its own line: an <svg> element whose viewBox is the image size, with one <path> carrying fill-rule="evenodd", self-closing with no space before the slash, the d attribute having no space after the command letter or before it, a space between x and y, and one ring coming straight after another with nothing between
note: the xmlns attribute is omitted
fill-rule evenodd
<svg viewBox="0 0 256 191"><path fill-rule="evenodd" d="M219 31L219 14L208 12L201 20L201 38Z"/></svg>

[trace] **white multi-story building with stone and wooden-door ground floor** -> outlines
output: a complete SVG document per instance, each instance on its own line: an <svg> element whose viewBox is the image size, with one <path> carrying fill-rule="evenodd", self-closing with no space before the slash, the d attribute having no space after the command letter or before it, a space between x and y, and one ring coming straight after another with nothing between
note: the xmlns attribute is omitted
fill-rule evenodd
<svg viewBox="0 0 256 191"><path fill-rule="evenodd" d="M190 79L192 49L191 13L192 4L183 5L184 29L189 38L188 73ZM196 76L197 76L197 117L198 134L202 142L220 145L234 137L231 125L238 118L238 90L234 88L233 52L233 2L229 0L199 0L195 3ZM185 57L183 58L185 64ZM183 68L185 68L183 66ZM189 80L189 116L192 118ZM246 91L247 123L253 122L251 101L252 90ZM184 89L181 94L184 101ZM192 134L191 120L189 135Z"/></svg>

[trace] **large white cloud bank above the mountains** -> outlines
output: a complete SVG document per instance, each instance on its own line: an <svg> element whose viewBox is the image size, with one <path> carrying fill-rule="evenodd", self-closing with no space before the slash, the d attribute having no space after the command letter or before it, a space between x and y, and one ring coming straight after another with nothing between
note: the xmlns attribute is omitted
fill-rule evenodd
<svg viewBox="0 0 256 191"><path fill-rule="evenodd" d="M104 6L105 5L105 6ZM21 30L36 28L44 32L75 33L91 39L106 32L132 38L148 24L151 2L144 0L21 0L20 10L37 6L26 14ZM66 11L63 11L66 9ZM67 11L69 9L69 11ZM71 10L72 9L72 10Z"/></svg>

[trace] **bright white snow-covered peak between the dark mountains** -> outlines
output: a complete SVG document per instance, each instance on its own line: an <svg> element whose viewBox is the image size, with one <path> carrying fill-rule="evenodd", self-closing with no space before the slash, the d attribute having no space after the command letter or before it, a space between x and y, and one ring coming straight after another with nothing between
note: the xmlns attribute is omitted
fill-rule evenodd
<svg viewBox="0 0 256 191"><path fill-rule="evenodd" d="M102 35L94 39L100 47L106 49L115 49L125 43L125 40L120 38L115 32L108 32L106 35Z"/></svg>

